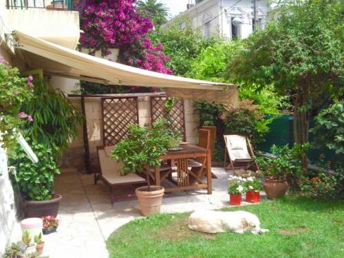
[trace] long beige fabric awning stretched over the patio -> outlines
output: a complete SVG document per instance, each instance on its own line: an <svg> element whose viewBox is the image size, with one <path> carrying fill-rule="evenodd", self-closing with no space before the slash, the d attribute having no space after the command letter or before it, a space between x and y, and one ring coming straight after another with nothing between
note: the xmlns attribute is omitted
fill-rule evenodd
<svg viewBox="0 0 344 258"><path fill-rule="evenodd" d="M46 74L109 85L160 87L169 96L202 99L224 105L236 106L238 103L236 85L160 74L122 65L70 50L18 30L15 31L14 39L29 67L43 69Z"/></svg>

